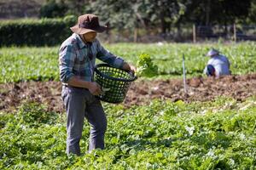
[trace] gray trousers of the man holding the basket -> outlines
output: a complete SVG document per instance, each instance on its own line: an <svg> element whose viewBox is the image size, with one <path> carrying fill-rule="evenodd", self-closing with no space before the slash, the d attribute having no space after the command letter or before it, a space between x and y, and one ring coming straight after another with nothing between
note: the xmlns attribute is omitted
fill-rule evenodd
<svg viewBox="0 0 256 170"><path fill-rule="evenodd" d="M89 151L104 149L104 134L107 129L107 118L101 101L85 88L63 86L61 98L67 112L67 155L80 155L79 141L82 137L84 117L90 123Z"/></svg>

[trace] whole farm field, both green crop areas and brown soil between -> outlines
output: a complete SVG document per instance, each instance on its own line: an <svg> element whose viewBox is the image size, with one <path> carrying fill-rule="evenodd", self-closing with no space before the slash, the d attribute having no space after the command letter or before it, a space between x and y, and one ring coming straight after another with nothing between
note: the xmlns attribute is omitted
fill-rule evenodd
<svg viewBox="0 0 256 170"><path fill-rule="evenodd" d="M58 47L0 48L0 169L256 169L255 43L105 47L134 65L148 54L159 72L139 77L124 103L102 103L105 150L87 153L84 121L82 156L65 153ZM212 47L230 59L232 76L202 75Z"/></svg>

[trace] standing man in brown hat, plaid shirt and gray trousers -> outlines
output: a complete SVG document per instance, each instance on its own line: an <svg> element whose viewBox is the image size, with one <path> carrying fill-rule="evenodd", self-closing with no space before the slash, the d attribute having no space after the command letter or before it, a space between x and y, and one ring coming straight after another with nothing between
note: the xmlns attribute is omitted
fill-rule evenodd
<svg viewBox="0 0 256 170"><path fill-rule="evenodd" d="M61 98L67 112L67 155L79 156L84 117L91 126L89 152L104 149L107 119L100 100L96 99L102 93L93 80L96 58L125 71L134 72L135 67L102 47L96 35L107 26L100 26L95 14L79 16L77 25L70 29L73 34L61 44L59 52Z"/></svg>

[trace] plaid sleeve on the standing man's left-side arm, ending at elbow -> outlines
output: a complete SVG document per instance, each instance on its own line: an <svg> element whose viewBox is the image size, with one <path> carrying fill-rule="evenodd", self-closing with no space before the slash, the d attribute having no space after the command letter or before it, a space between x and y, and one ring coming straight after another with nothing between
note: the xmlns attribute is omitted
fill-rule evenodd
<svg viewBox="0 0 256 170"><path fill-rule="evenodd" d="M75 51L73 45L67 45L60 48L59 68L61 82L67 83L73 77L73 65L75 61Z"/></svg>

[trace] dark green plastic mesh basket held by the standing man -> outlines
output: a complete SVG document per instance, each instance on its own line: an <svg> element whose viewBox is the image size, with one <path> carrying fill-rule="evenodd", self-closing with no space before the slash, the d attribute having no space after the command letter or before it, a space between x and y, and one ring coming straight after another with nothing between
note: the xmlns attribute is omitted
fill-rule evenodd
<svg viewBox="0 0 256 170"><path fill-rule="evenodd" d="M103 91L97 98L108 103L121 103L125 99L131 82L136 79L137 77L131 73L108 64L96 65L95 81L101 85Z"/></svg>

